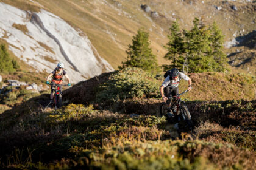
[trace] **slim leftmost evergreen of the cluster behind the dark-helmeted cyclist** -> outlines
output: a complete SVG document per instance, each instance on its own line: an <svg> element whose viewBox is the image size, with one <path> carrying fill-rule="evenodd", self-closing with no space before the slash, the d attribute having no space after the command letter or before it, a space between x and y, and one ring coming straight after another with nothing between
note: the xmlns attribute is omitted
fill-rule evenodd
<svg viewBox="0 0 256 170"><path fill-rule="evenodd" d="M177 67L178 63L176 62L176 58L184 52L184 42L179 24L174 21L169 30L171 32L170 35L168 35L169 42L165 46L168 52L165 54L164 58L172 60L172 64L164 64L162 67L165 71Z"/></svg>

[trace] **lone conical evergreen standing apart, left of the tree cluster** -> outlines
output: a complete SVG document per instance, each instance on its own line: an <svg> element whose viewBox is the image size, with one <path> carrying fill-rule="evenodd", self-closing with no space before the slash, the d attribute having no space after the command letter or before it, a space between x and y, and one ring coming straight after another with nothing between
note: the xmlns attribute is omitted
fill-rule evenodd
<svg viewBox="0 0 256 170"><path fill-rule="evenodd" d="M149 33L139 29L126 50L127 61L122 62L123 66L119 66L119 69L138 67L149 72L158 72L157 58L149 46Z"/></svg>

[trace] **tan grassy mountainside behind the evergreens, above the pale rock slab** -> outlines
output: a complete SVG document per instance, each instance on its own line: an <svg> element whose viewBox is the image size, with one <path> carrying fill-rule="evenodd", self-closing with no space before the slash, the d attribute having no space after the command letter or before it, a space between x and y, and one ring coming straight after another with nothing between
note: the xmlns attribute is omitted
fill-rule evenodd
<svg viewBox="0 0 256 170"><path fill-rule="evenodd" d="M152 49L160 65L166 64L163 47L168 39L172 21L178 20L182 29L191 29L193 19L205 24L216 21L225 35L225 41L251 33L255 29L255 3L247 1L5 1L23 10L38 12L46 9L76 29L82 30L96 50L115 69L126 59L125 50L140 27L150 33ZM141 4L147 4L158 17L146 13ZM235 5L236 10L232 9ZM217 7L221 8L220 10ZM247 57L246 57L247 58Z"/></svg>

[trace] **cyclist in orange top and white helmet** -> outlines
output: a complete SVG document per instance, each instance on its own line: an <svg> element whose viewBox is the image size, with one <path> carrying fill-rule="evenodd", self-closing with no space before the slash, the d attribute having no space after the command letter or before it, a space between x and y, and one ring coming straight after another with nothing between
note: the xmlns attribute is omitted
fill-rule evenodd
<svg viewBox="0 0 256 170"><path fill-rule="evenodd" d="M51 72L48 77L46 78L46 84L49 83L49 78L52 77L51 81L51 96L50 96L50 102L53 103L53 96L55 93L55 87L56 84L62 84L62 76L65 75L65 77L68 79L68 86L71 86L70 84L70 79L68 77L68 74L63 70L64 64L63 63L58 63L57 67L54 69L53 72ZM60 93L62 93L62 86L60 86Z"/></svg>

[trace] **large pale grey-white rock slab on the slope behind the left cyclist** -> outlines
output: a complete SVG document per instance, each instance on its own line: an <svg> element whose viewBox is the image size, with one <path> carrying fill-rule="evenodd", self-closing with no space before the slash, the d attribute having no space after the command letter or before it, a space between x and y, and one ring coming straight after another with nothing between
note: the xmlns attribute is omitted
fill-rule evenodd
<svg viewBox="0 0 256 170"><path fill-rule="evenodd" d="M50 73L57 63L65 64L72 83L85 80L113 67L99 56L90 39L79 29L46 10L30 13L0 3L0 38L12 53L37 70ZM24 30L13 27L22 25Z"/></svg>

